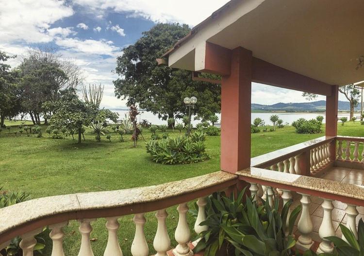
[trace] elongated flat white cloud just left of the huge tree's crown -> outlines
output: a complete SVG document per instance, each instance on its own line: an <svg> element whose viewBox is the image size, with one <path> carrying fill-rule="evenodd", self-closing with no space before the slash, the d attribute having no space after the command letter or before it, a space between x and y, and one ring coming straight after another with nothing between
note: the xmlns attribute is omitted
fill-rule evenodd
<svg viewBox="0 0 364 256"><path fill-rule="evenodd" d="M90 54L110 55L110 56L116 56L118 53L120 53L119 47L114 46L112 41L106 41L104 39L82 40L80 38L57 37L55 39L55 43L58 46L63 47L64 49L68 49L69 51L75 51L75 52L84 52Z"/></svg>

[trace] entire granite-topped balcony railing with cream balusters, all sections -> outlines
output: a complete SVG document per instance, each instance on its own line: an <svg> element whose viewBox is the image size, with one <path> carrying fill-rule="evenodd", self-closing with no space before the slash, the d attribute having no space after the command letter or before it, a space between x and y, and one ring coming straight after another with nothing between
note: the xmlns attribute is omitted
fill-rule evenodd
<svg viewBox="0 0 364 256"><path fill-rule="evenodd" d="M236 175L221 171L158 186L60 195L5 207L0 210L0 249L14 237L20 236L20 247L24 255L32 256L36 242L34 236L48 226L53 242L52 256L64 256L62 228L68 221L78 220L82 236L79 256L90 256L93 255L90 245L92 222L97 218L105 218L108 241L104 255L120 256L122 250L117 238L117 219L122 215L134 214L135 234L132 247L122 249L131 251L133 256L148 256L144 213L156 211L158 226L153 246L158 256L166 255L170 249L170 240L166 231L165 208L179 205L179 222L175 232L178 245L174 252L175 255L186 255L190 250L187 202L198 199L199 214L194 228L196 233L200 233L207 228L199 226L206 218L205 197L215 191L236 188L238 180L242 180L250 184L249 190L255 200L263 198L270 205L274 204L274 194L280 195L277 198L282 203L292 200L295 193L300 195L302 212L298 221L297 239L298 248L302 250L311 247L314 242L310 235L313 230L309 212L310 197L322 198L320 207L323 210L323 221L319 229L320 240L316 239L319 242L317 251L331 252L331 243L323 238L335 235L331 218L333 201L347 204L346 225L356 235L356 207L364 206L364 187L318 177L334 165L362 166L359 149L363 142L364 138L360 137L319 137L254 157L251 159L252 167L239 171Z"/></svg>

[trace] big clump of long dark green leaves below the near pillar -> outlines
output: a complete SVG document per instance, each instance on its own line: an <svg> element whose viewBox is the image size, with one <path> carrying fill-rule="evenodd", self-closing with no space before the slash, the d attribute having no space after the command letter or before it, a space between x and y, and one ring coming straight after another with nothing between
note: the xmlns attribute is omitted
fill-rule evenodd
<svg viewBox="0 0 364 256"><path fill-rule="evenodd" d="M301 206L297 206L289 217L288 210L292 201L285 204L279 213L279 201L273 208L268 202L258 205L252 198L243 203L243 189L235 198L216 192L209 196L206 205L206 221L209 229L202 231L194 252L205 250L205 256L215 256L221 249L226 255L235 256L290 256L296 241L292 236L293 225ZM197 205L196 205L197 206ZM198 208L197 208L198 209ZM197 211L193 212L197 215ZM222 252L223 253L223 252Z"/></svg>

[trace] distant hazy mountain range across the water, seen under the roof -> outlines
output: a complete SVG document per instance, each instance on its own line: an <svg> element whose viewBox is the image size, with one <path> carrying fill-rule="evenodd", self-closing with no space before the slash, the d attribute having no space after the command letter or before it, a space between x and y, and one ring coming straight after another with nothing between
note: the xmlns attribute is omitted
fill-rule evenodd
<svg viewBox="0 0 364 256"><path fill-rule="evenodd" d="M256 111L286 111L286 112L325 112L326 101L304 102L304 103L276 103L273 105L251 104L251 110ZM338 102L339 110L349 110L349 102ZM360 110L360 104L355 107Z"/></svg>

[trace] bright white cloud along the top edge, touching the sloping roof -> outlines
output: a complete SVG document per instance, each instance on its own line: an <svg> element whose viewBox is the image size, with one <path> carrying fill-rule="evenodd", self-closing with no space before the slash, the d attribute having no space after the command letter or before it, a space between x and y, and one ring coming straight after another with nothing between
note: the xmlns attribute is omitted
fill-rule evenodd
<svg viewBox="0 0 364 256"><path fill-rule="evenodd" d="M130 12L132 17L144 17L154 22L182 22L197 25L229 0L74 0L93 10L112 9Z"/></svg>

